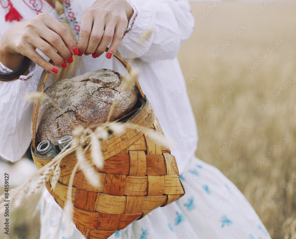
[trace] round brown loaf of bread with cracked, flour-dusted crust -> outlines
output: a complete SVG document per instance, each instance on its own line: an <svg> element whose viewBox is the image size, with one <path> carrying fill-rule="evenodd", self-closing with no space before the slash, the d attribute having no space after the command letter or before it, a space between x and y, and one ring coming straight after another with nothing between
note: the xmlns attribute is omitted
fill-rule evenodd
<svg viewBox="0 0 296 239"><path fill-rule="evenodd" d="M45 93L65 112L75 126L94 130L107 121L115 100L110 121L122 117L136 104L135 87L124 90L125 80L114 70L95 70L81 76L57 81ZM48 100L41 102L36 137L39 142L49 139L58 145L57 138L71 133L73 126Z"/></svg>

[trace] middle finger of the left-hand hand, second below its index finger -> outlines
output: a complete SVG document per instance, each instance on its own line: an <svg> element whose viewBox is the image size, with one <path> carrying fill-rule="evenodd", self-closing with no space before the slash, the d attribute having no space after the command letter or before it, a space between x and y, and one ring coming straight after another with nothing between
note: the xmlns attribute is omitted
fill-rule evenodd
<svg viewBox="0 0 296 239"><path fill-rule="evenodd" d="M47 31L42 31L40 33L40 36L50 45L54 46L54 48L57 50L57 52L64 59L65 62L73 62L72 53L57 33L50 29L47 29Z"/></svg>

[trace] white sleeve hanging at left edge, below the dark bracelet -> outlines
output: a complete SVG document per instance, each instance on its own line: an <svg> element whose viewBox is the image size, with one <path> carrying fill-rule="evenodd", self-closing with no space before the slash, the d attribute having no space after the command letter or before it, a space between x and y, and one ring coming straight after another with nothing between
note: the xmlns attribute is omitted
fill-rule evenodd
<svg viewBox="0 0 296 239"><path fill-rule="evenodd" d="M33 105L24 96L37 89L36 65L27 76L14 81L0 81L0 158L15 162L27 151L32 141ZM0 72L11 72L0 62Z"/></svg>

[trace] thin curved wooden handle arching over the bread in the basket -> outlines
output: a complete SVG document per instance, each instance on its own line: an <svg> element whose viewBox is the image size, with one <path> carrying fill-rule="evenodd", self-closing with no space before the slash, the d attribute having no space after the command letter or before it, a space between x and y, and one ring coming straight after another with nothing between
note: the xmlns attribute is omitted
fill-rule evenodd
<svg viewBox="0 0 296 239"><path fill-rule="evenodd" d="M107 52L108 47L106 48L105 52ZM119 54L115 53L114 54L115 58L117 60L120 61L120 63L126 68L126 70L128 71L129 74L131 74L131 66L128 64L128 62L126 62L126 60L123 59L123 57L121 57ZM49 63L53 64L52 60L49 60ZM38 86L37 86L37 92L43 92L44 91L44 86L45 83L49 77L50 72L43 70L39 82L38 82ZM136 89L138 90L139 96L143 99L145 99L145 95L141 89L141 86L139 84L138 79L136 78L135 80L135 86ZM34 103L33 105L33 113L32 113L32 122L33 122L33 142L32 142L32 146L33 149L35 149L36 146L36 128L37 128L37 116L38 116L38 112L39 112L39 107L40 107L40 101L38 101L37 103Z"/></svg>

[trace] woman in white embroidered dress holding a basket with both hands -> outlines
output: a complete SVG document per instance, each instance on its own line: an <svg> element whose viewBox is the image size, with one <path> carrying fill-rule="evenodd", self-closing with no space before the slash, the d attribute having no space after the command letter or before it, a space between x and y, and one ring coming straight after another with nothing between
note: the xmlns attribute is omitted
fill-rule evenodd
<svg viewBox="0 0 296 239"><path fill-rule="evenodd" d="M194 27L188 1L65 0L63 9L74 36L58 21L65 18L59 18L52 7L55 4L54 0L1 0L1 72L25 69L24 61L28 61L24 56L34 63L16 80L0 82L0 157L17 161L29 146L15 150L15 145L23 145L31 137L32 106L22 98L35 91L43 69L57 73L59 68L69 68L73 55L78 55L77 75L100 68L123 73L123 66L112 56L118 51L128 59L135 51L131 67L140 70L140 85L166 137L173 141L172 154L186 195L111 238L270 238L237 187L194 156L197 130L176 58ZM151 34L142 41L147 30ZM193 72L191 79L196 77ZM40 207L41 239L83 238L74 225L72 231L64 230L64 214L47 191Z"/></svg>

